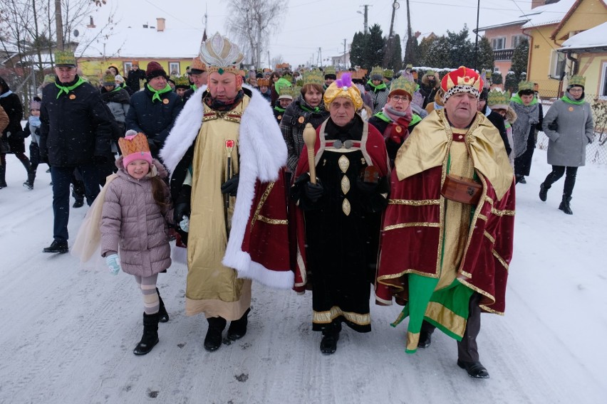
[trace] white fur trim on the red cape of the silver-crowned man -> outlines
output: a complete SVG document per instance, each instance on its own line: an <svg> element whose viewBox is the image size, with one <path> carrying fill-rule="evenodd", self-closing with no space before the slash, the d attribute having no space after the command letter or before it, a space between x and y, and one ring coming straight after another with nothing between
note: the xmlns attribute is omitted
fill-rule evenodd
<svg viewBox="0 0 607 404"><path fill-rule="evenodd" d="M269 103L259 91L247 85L243 87L251 90L252 95L242 115L239 129L238 196L222 263L237 270L239 277L250 278L270 287L288 289L293 286L293 272L269 270L258 262L251 261L249 254L242 251L242 240L249 222L256 180L275 181L280 169L286 164L287 156L286 144ZM204 114L200 100L202 92L206 89L206 86L199 88L186 102L167 137L165 147L160 151L160 156L171 175L198 135Z"/></svg>

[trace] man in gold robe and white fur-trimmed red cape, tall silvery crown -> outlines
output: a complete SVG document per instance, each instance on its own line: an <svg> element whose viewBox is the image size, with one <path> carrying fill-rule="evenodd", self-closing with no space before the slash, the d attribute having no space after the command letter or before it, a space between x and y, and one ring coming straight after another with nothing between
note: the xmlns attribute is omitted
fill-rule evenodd
<svg viewBox="0 0 607 404"><path fill-rule="evenodd" d="M216 33L199 57L208 85L190 97L160 156L187 244L186 314L204 313L204 348L215 351L227 321L228 339L247 332L251 280L289 289L294 275L285 243L286 145L271 107L242 85L244 56L228 38Z"/></svg>

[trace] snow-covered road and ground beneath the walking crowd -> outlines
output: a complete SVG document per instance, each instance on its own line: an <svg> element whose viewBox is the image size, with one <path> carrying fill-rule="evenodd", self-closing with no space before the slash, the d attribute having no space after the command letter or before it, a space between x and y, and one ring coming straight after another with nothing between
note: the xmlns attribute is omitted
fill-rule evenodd
<svg viewBox="0 0 607 404"><path fill-rule="evenodd" d="M133 277L79 270L52 240L50 174L33 191L9 155L0 191L0 403L605 403L607 395L607 167L579 170L571 206L557 209L563 180L539 201L549 172L537 150L517 186L507 314L484 314L479 336L491 378L456 365L455 341L405 354L400 307L372 307L373 332L344 329L323 356L311 331L311 294L254 285L249 332L204 351L207 322L185 317L186 268L159 287L171 320L147 356L132 353L142 331ZM73 243L86 208L72 209Z"/></svg>

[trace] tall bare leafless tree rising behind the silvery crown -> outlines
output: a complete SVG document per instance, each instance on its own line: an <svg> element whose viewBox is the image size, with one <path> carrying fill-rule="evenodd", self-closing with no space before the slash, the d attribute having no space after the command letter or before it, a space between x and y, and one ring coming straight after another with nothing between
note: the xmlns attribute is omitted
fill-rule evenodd
<svg viewBox="0 0 607 404"><path fill-rule="evenodd" d="M226 23L229 35L234 35L249 56L251 64L261 67L262 54L271 35L279 31L289 1L235 0L228 6L232 16Z"/></svg>

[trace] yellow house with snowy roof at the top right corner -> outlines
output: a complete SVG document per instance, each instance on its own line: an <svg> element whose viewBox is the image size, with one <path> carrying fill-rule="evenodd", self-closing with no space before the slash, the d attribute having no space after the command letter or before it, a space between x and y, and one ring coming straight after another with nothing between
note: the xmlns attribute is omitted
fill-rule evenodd
<svg viewBox="0 0 607 404"><path fill-rule="evenodd" d="M561 0L533 11L522 26L530 37L527 80L539 85L541 97L559 97L566 85L561 80L580 67L573 53L568 58L568 53L559 50L576 33L606 22L607 4L604 0Z"/></svg>

